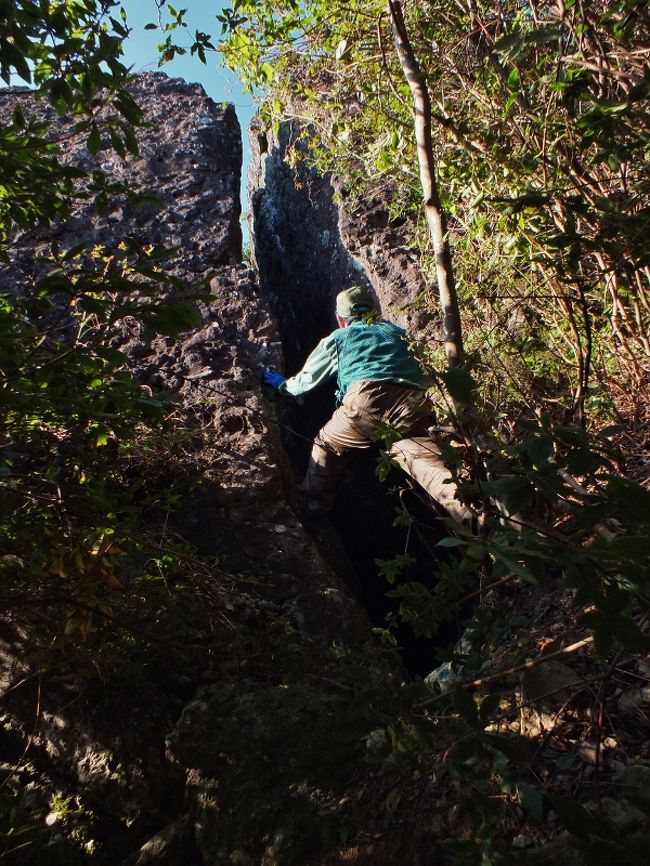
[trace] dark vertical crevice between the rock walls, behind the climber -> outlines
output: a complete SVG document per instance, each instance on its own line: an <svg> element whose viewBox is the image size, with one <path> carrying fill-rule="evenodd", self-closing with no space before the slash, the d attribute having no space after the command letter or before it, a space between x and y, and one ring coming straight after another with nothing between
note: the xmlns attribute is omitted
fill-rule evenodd
<svg viewBox="0 0 650 866"><path fill-rule="evenodd" d="M259 187L252 195L255 261L261 289L276 318L287 376L297 373L318 341L336 327L337 293L352 282L367 283L359 263L341 242L331 184L305 168L296 183L294 170L283 158L293 146L292 134L291 125L285 125L274 144L259 148ZM304 474L311 440L334 406L330 385L306 394L301 404L278 398L283 444L298 477ZM387 617L395 617L398 600L387 598L391 587L379 574L376 560L410 553L416 562L400 579L430 588L440 567L441 552L435 545L446 533L431 509L413 496L409 508L418 531L395 526L400 497L391 488L402 486L406 478L394 470L387 482L380 483L375 473L378 455L377 448L349 455L330 522L356 571L357 586L350 590L373 625L381 628ZM458 628L453 624L425 640L415 638L409 626L397 627L408 670L428 673L436 665L436 649L452 642Z"/></svg>

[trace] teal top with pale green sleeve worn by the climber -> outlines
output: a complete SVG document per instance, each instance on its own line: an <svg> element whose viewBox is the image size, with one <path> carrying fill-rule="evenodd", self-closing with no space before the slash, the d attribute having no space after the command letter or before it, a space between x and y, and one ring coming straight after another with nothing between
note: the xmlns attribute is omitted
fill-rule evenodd
<svg viewBox="0 0 650 866"><path fill-rule="evenodd" d="M403 328L384 321L351 322L324 337L302 370L280 390L298 397L323 382L337 379L340 404L354 382L395 382L426 388L426 377L413 357Z"/></svg>

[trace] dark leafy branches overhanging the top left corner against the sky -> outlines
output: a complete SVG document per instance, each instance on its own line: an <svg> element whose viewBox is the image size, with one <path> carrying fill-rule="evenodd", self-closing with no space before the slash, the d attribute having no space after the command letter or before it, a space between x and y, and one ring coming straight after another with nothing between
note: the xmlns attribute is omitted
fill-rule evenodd
<svg viewBox="0 0 650 866"><path fill-rule="evenodd" d="M116 12L116 15L111 14ZM121 62L128 34L124 11L114 0L84 3L6 2L0 8L3 38L0 75L33 84L39 98L57 114L76 118L96 154L102 132L122 156L137 152L134 127L142 112L126 89L128 70ZM101 108L104 111L100 111ZM109 108L109 111L106 111ZM72 181L86 174L64 168L56 158L59 143L48 140L49 124L25 118L16 105L13 122L0 139L0 238L14 227L29 228L65 217L73 198ZM99 194L101 173L89 189Z"/></svg>

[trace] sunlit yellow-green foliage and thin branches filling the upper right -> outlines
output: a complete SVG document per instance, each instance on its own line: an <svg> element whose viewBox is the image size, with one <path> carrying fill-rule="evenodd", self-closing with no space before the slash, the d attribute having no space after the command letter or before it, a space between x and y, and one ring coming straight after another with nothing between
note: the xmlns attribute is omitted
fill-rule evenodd
<svg viewBox="0 0 650 866"><path fill-rule="evenodd" d="M434 108L469 348L504 358L489 364L502 381L506 368L518 399L566 382L581 419L594 373L598 387L606 375L640 383L650 353L647 4L405 12ZM236 0L218 17L220 50L265 96L269 122L294 115L321 168L415 208L412 107L383 0Z"/></svg>

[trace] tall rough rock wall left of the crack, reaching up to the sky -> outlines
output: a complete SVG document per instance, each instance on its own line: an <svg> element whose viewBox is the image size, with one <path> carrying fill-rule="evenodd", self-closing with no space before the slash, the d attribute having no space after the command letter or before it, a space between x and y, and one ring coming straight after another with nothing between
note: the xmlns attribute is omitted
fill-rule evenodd
<svg viewBox="0 0 650 866"><path fill-rule="evenodd" d="M149 347L141 326L129 319L122 324L121 348L145 386L163 389L185 406L200 404L210 418L213 452L205 480L214 481L214 489L206 497L211 504L186 518L188 531L201 547L215 551L233 532L244 534L247 545L233 553L233 567L281 561L283 576L276 575L276 586L282 585L281 594L292 599L298 611L297 599L309 595L305 587L313 579L320 593L329 569L318 558L305 556L305 545L313 545L287 503L277 425L266 399L272 395L262 392L262 367L280 364L281 348L255 274L240 261L239 124L232 106L217 106L200 86L160 73L136 78L132 93L147 118L139 155L120 160L112 152L110 157L100 152L98 161L109 180L127 180L133 189L155 194L159 201L144 211L127 200L111 201L109 213L99 216L91 203L80 203L65 223L18 236L4 278L20 285L21 276L33 270L34 250L53 235L62 246L90 240L109 250L121 238L135 237L142 244L175 248L170 269L184 282L211 277L209 298L199 305L202 323L195 331L179 340L157 338ZM26 88L9 88L2 91L0 117L10 116L16 101L26 114L43 110ZM71 134L64 121L50 116L48 109L44 112L54 120L53 134L67 137L62 159L91 168L95 161L87 153L85 136ZM291 490L294 479L288 482ZM205 520L209 525L202 524ZM262 527L267 533L263 538L258 531ZM298 565L305 560L316 572ZM298 574L302 577L294 576ZM334 617L337 634L340 617L346 619L344 607L341 603ZM311 622L312 637L325 636L328 617L322 610L310 614L305 609L299 615Z"/></svg>

